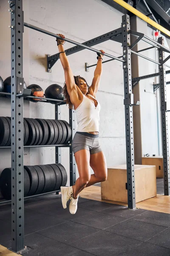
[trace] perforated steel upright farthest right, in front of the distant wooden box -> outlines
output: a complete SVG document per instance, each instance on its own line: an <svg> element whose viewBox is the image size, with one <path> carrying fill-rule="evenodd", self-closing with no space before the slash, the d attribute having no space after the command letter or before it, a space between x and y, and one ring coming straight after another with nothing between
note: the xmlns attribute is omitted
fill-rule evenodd
<svg viewBox="0 0 170 256"><path fill-rule="evenodd" d="M158 43L164 45L164 38L159 38ZM159 80L161 95L161 130L162 130L162 154L164 169L164 195L170 195L170 167L169 167L169 145L168 145L168 122L167 122L167 93L166 93L166 70L164 52L159 49Z"/></svg>

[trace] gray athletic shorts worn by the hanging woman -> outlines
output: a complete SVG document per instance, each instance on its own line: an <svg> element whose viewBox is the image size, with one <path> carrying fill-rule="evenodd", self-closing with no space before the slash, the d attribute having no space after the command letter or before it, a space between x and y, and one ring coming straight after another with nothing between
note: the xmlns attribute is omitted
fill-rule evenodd
<svg viewBox="0 0 170 256"><path fill-rule="evenodd" d="M72 141L72 150L75 154L82 149L89 150L90 154L96 154L102 151L99 145L99 134L89 134L87 132L77 131Z"/></svg>

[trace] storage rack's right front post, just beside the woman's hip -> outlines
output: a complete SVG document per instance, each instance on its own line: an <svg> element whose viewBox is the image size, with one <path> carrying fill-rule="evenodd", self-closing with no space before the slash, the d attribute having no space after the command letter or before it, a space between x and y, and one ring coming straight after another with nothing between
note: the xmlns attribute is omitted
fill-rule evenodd
<svg viewBox="0 0 170 256"><path fill-rule="evenodd" d="M70 143L72 143L74 134L76 132L76 113L75 110L69 109L69 124L71 126L72 136ZM70 186L73 186L76 182L76 160L70 146Z"/></svg>

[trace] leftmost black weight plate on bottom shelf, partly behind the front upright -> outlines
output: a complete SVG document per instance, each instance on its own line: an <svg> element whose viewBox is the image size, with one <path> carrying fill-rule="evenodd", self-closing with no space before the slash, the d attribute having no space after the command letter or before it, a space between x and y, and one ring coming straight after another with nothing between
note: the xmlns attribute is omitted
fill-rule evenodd
<svg viewBox="0 0 170 256"><path fill-rule="evenodd" d="M28 194L29 189L30 179L24 169L24 196ZM4 199L11 200L11 168L4 169L0 175L0 191Z"/></svg>

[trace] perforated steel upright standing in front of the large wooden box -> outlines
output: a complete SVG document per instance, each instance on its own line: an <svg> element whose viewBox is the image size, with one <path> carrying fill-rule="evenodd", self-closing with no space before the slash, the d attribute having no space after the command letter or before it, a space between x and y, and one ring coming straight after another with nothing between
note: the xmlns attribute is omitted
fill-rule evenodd
<svg viewBox="0 0 170 256"><path fill-rule="evenodd" d="M128 208L136 208L135 200L135 170L134 170L134 143L133 143L133 93L131 77L131 51L130 51L130 17L122 16L122 47L124 72L124 105L126 130L126 161L127 161L127 200Z"/></svg>

